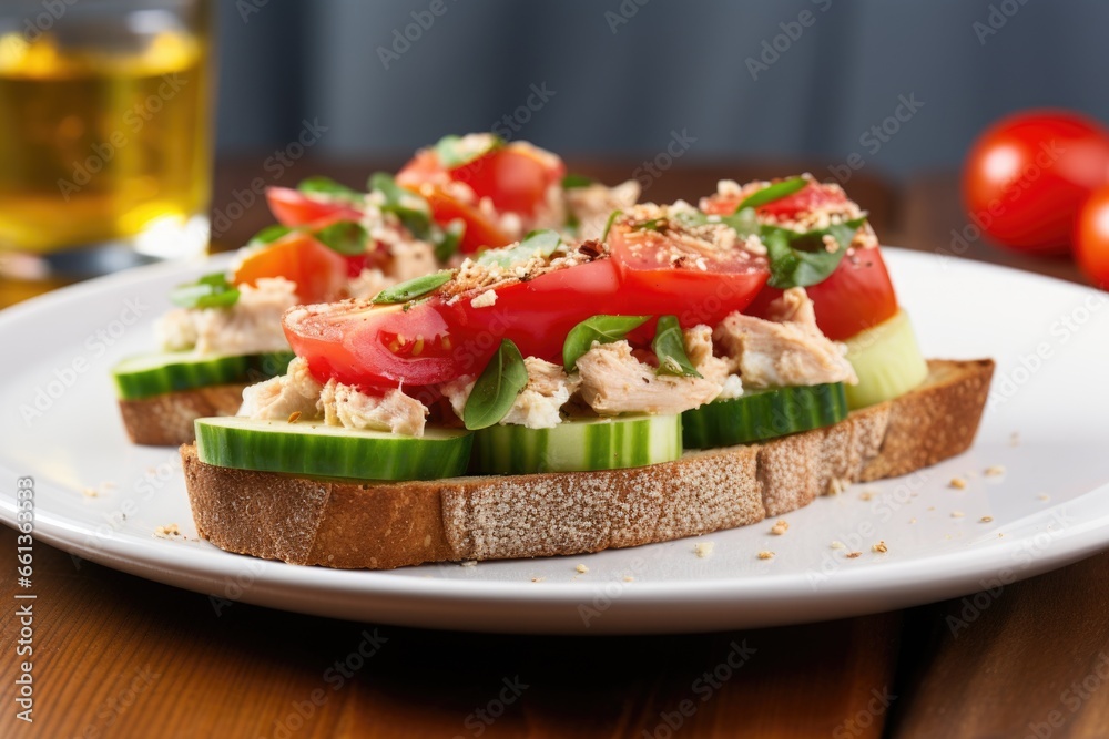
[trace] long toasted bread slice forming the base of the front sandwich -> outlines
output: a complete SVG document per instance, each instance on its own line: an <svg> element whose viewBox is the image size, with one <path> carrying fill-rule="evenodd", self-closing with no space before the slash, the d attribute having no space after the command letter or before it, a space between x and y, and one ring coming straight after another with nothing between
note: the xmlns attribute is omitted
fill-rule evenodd
<svg viewBox="0 0 1109 739"><path fill-rule="evenodd" d="M294 564L388 569L637 546L756 523L846 484L966 450L994 362L928 362L928 379L827 429L604 472L323 482L204 464L181 448L201 536Z"/></svg>

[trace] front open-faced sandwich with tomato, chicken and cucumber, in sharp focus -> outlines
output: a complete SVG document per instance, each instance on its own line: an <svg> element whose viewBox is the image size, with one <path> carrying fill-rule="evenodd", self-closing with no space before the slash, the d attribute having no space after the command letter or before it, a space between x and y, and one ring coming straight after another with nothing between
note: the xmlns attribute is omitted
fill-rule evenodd
<svg viewBox="0 0 1109 739"><path fill-rule="evenodd" d="M865 214L811 177L536 230L285 312L295 352L182 447L200 534L332 567L751 524L965 450L993 362L926 361Z"/></svg>

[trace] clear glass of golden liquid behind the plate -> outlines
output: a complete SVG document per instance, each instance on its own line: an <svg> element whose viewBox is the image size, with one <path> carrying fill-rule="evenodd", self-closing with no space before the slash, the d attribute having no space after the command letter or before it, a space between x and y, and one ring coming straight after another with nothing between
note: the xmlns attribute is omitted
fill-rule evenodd
<svg viewBox="0 0 1109 739"><path fill-rule="evenodd" d="M204 252L212 6L0 3L0 306Z"/></svg>

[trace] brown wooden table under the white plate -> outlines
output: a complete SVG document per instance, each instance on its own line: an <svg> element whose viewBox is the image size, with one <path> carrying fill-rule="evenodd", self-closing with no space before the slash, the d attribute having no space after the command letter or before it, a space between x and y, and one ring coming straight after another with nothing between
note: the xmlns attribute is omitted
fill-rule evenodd
<svg viewBox="0 0 1109 739"><path fill-rule="evenodd" d="M235 192L247 199L263 158L220 168L217 212ZM692 198L725 173L804 167L675 167L648 195ZM634 165L577 170L614 182ZM367 171L298 163L282 181L330 172L357 185ZM950 229L966 223L949 175L898 191L859 173L849 191L887 243L949 249ZM255 203L221 239L241 244L267 220ZM1067 261L978 242L963 256L1079 279ZM0 527L0 551L14 546ZM78 568L41 543L35 583L35 721L17 721L8 699L18 639L9 614L3 737L1109 736L1109 679L1098 677L1099 666L1109 677L1109 552L1005 587L957 637L948 617L962 617L962 598L805 626L622 638L425 632L243 604L217 614L206 596ZM0 589L14 603L10 572ZM704 681L744 645L759 659Z"/></svg>

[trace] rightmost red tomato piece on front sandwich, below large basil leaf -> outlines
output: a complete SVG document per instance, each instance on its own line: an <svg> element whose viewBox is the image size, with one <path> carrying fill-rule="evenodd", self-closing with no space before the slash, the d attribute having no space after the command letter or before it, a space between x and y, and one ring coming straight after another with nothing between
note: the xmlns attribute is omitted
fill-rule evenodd
<svg viewBox="0 0 1109 739"><path fill-rule="evenodd" d="M897 312L897 295L878 247L848 249L827 279L805 288L816 325L833 341L844 341ZM749 312L764 316L782 290L763 288Z"/></svg>

